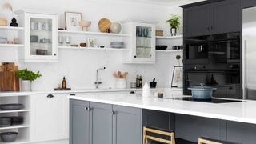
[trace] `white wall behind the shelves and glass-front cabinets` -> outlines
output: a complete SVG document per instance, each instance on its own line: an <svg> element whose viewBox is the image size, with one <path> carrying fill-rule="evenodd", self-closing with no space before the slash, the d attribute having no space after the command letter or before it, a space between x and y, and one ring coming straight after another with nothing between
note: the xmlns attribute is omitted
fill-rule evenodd
<svg viewBox="0 0 256 144"><path fill-rule="evenodd" d="M59 16L59 26L64 25L64 11L81 12L82 18L92 21L91 31L98 31L98 20L109 18L112 22L126 19L156 21L169 33L165 24L170 14L181 15L182 9L169 6L142 4L125 1L94 1L94 0L10 0L14 10L22 8L54 10ZM2 4L0 2L0 5ZM0 11L0 16L6 13ZM175 42L174 44L182 41ZM0 62L17 62L17 49L1 48ZM94 88L95 73L99 67L106 66L101 71L102 87L114 87L112 73L115 70L129 72L128 82L134 81L136 74L142 74L143 80L150 81L156 78L158 87L170 86L172 70L178 61L176 54L157 54L155 65L126 65L122 64L121 52L88 51L88 50L59 50L58 62L51 63L18 63L20 69L40 70L42 78L34 82L33 90L53 90L66 76L68 85L74 89Z"/></svg>

